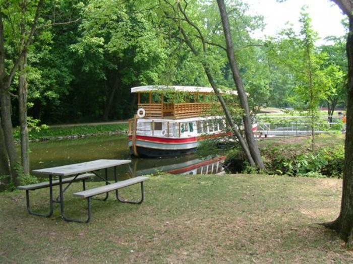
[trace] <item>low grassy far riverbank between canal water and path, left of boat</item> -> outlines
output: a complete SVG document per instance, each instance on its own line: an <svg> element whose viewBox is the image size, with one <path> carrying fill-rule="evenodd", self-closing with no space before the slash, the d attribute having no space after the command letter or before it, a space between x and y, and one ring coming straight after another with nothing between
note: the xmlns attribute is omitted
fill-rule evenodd
<svg viewBox="0 0 353 264"><path fill-rule="evenodd" d="M87 123L87 124L69 124L55 125L40 130L31 129L29 139L32 142L47 140L63 140L76 139L92 136L104 135L123 135L128 132L128 124L126 122L109 122L109 123ZM19 133L15 133L15 139L20 140Z"/></svg>

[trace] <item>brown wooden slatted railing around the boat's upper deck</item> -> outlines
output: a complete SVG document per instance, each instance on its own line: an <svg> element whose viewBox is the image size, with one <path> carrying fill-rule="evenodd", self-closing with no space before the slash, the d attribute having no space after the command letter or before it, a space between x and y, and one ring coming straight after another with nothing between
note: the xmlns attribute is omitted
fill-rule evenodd
<svg viewBox="0 0 353 264"><path fill-rule="evenodd" d="M139 104L139 108L145 109L145 117L163 118L171 117L172 119L181 119L189 117L207 116L210 114L212 107L218 106L217 103L153 103Z"/></svg>

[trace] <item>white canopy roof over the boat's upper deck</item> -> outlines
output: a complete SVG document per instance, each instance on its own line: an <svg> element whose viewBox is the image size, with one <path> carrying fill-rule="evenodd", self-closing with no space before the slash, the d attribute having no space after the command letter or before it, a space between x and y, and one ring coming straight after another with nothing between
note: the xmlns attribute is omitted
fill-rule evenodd
<svg viewBox="0 0 353 264"><path fill-rule="evenodd" d="M132 93L148 93L148 92L184 92L184 93L214 93L213 88L199 86L168 86L168 85L147 85L131 88ZM221 91L225 94L238 95L237 91Z"/></svg>

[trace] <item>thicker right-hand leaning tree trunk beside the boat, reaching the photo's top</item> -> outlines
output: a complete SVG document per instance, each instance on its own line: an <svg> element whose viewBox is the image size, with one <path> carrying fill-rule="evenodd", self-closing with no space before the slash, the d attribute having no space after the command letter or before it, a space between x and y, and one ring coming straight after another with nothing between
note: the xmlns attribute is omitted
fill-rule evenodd
<svg viewBox="0 0 353 264"><path fill-rule="evenodd" d="M260 150L259 150L259 147L258 147L256 141L255 141L255 137L254 137L254 133L253 133L253 125L252 125L252 121L251 121L247 95L246 95L246 92L245 92L245 89L243 86L242 78L240 76L240 72L238 69L236 58L234 57L233 43L231 40L228 15L225 10L224 1L217 0L217 4L218 4L219 12L221 15L221 19L222 19L223 31L224 31L224 37L225 37L225 42L226 42L226 46L227 46L227 56L228 56L228 61L230 64L230 69L231 69L231 72L233 75L234 83L237 86L240 104L244 110L243 122L244 122L245 137L248 142L251 156L253 157L257 167L260 169L264 169L264 164L261 159Z"/></svg>

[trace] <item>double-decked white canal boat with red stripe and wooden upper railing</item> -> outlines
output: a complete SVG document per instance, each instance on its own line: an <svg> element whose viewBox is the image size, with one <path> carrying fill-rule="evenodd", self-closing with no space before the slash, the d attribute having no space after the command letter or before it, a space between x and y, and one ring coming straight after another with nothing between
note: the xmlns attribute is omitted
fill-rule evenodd
<svg viewBox="0 0 353 264"><path fill-rule="evenodd" d="M225 134L225 119L212 88L159 85L134 87L131 92L138 98L137 114L129 120L131 155L186 155L194 153L203 140ZM236 91L223 93L237 95Z"/></svg>

